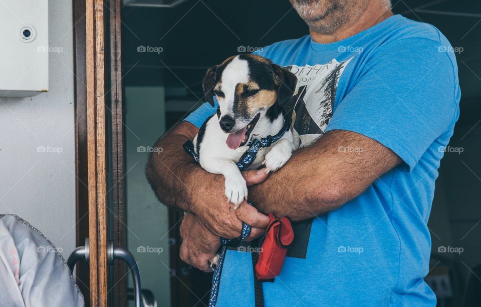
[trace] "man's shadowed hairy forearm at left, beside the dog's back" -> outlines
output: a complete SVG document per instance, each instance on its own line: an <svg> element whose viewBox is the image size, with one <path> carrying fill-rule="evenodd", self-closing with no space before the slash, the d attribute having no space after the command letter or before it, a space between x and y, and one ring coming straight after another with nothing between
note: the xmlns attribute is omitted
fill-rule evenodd
<svg viewBox="0 0 481 307"><path fill-rule="evenodd" d="M189 211L191 187L190 178L199 168L183 149L182 145L195 136L196 128L181 123L172 132L160 138L155 147L162 148L152 152L146 166L147 179L157 198L168 206Z"/></svg>

